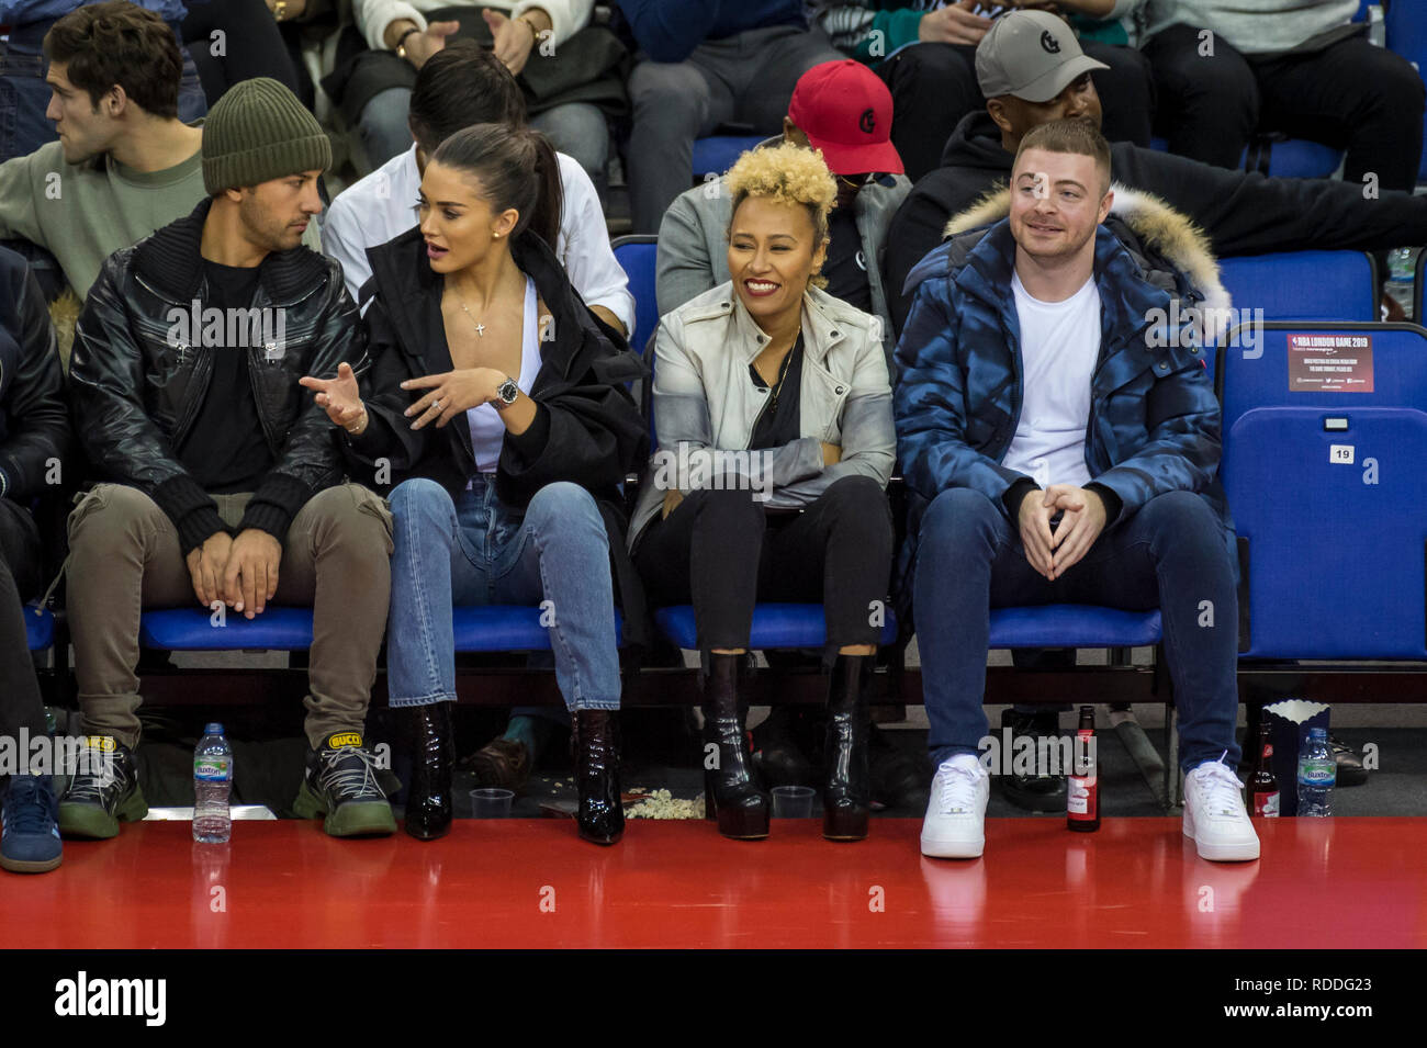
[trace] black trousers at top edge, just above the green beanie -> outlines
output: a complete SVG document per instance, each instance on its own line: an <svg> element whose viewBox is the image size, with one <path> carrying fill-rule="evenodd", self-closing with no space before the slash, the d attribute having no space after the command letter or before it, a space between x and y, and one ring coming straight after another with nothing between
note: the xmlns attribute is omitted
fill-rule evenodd
<svg viewBox="0 0 1427 1048"><path fill-rule="evenodd" d="M223 54L214 54L214 31L223 33ZM183 20L183 40L198 67L208 106L240 80L254 77L271 77L298 94L297 70L263 0L205 0L193 4Z"/></svg>

